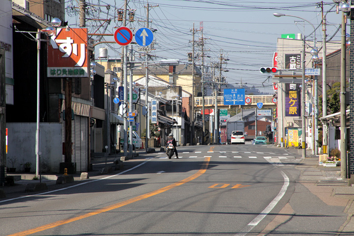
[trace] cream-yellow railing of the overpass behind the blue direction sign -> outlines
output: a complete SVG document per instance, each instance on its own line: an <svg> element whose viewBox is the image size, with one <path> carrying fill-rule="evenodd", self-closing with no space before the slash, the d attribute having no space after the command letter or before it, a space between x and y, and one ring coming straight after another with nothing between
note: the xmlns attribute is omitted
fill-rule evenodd
<svg viewBox="0 0 354 236"><path fill-rule="evenodd" d="M273 95L247 95L245 97L251 98L251 103L245 105L257 105L257 103L262 102L263 105L274 105L272 102ZM204 97L205 106L215 106L215 97ZM197 107L203 106L203 97L195 97L194 104ZM224 96L217 97L218 106L224 106ZM225 105L228 106L228 105Z"/></svg>

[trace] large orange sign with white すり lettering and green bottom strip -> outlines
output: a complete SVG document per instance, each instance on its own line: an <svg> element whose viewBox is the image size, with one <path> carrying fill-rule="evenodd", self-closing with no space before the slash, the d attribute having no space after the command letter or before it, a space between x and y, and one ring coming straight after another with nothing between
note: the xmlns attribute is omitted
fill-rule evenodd
<svg viewBox="0 0 354 236"><path fill-rule="evenodd" d="M86 28L57 29L48 46L48 77L89 77Z"/></svg>

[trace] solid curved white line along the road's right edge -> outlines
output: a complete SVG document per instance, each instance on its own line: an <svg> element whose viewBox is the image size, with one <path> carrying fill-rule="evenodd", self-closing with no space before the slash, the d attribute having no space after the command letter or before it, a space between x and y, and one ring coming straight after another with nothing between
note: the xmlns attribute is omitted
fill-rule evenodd
<svg viewBox="0 0 354 236"><path fill-rule="evenodd" d="M280 171L284 178L283 187L280 189L278 195L269 203L269 205L254 218L246 227L241 230L241 233L236 234L235 236L245 236L247 235L256 225L258 225L266 215L278 204L278 202L283 198L289 186L289 177L284 174L284 172Z"/></svg>

